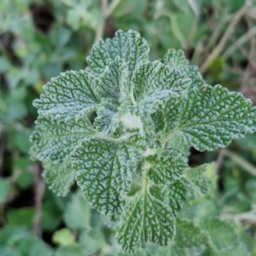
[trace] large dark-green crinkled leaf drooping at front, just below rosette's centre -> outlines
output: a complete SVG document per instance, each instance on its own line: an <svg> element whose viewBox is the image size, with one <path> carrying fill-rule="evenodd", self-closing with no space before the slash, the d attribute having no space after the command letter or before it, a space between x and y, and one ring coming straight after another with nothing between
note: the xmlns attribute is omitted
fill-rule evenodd
<svg viewBox="0 0 256 256"><path fill-rule="evenodd" d="M147 149L145 140L134 133L124 140L91 138L76 148L72 159L77 184L97 211L113 215L122 209L134 163Z"/></svg>

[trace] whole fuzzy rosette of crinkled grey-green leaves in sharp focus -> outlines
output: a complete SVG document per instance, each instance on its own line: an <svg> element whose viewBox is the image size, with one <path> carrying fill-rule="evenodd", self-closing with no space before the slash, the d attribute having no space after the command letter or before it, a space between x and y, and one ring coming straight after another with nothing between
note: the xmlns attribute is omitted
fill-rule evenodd
<svg viewBox="0 0 256 256"><path fill-rule="evenodd" d="M33 155L51 188L66 195L76 181L93 208L117 221L126 253L175 235L188 148L224 147L256 123L250 100L205 84L182 51L153 62L148 52L138 33L117 31L93 45L85 70L53 78L34 102Z"/></svg>

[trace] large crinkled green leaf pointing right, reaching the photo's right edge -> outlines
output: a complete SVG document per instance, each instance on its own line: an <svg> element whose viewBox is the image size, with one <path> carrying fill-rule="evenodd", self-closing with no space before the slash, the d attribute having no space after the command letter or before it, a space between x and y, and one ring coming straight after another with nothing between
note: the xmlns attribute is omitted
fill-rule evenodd
<svg viewBox="0 0 256 256"><path fill-rule="evenodd" d="M169 118L166 104L166 118ZM214 150L225 147L233 139L243 138L246 132L256 131L255 107L241 93L228 92L216 85L193 87L186 95L183 104L176 104L174 111L178 119L175 129L168 132L184 137L188 145L197 150Z"/></svg>

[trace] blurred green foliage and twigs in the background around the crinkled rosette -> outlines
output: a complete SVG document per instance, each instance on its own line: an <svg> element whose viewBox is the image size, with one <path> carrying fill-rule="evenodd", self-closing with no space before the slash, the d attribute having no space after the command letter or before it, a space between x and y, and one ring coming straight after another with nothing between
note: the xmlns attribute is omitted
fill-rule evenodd
<svg viewBox="0 0 256 256"><path fill-rule="evenodd" d="M247 8L244 2L0 1L0 255L116 255L119 250L114 224L90 209L79 191L75 193L76 187L67 197L54 195L44 184L41 164L29 159L29 136L37 115L32 102L43 92L42 86L60 72L86 67L95 40L113 37L117 29L134 29L146 38L152 60L170 48L181 48L193 65L202 68L213 56L203 72L207 83L220 83L256 104L256 1L248 1ZM220 45L227 31L232 33ZM217 158L218 186L211 201L200 202L196 211L195 202L188 201L185 207L193 208L195 223L205 220L206 229L214 225L209 212L233 221L236 237L230 239L239 237L250 255L256 255L255 134L216 152L203 154L192 148L189 164ZM229 236L230 226L223 224L223 230ZM175 246L170 252L176 252ZM136 254L156 252L153 247ZM223 250L220 255L230 255Z"/></svg>

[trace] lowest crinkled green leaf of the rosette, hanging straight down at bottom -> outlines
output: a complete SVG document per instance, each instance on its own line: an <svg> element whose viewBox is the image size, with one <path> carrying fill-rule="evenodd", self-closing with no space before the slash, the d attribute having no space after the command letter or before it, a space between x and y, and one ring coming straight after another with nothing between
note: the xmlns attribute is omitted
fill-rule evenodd
<svg viewBox="0 0 256 256"><path fill-rule="evenodd" d="M136 252L144 241L166 245L174 234L172 209L147 191L125 205L116 225L116 239L127 253Z"/></svg>

